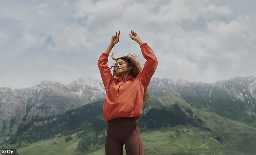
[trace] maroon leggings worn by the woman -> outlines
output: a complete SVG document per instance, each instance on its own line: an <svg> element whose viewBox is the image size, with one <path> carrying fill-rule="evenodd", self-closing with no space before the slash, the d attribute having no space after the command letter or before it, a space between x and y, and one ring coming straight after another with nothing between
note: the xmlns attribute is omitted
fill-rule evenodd
<svg viewBox="0 0 256 155"><path fill-rule="evenodd" d="M106 155L143 155L141 134L135 118L115 118L107 123Z"/></svg>

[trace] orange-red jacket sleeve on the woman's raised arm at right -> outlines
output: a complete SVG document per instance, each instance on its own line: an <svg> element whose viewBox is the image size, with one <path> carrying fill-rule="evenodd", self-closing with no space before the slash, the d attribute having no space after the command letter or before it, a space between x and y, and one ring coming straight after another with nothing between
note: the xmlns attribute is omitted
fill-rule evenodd
<svg viewBox="0 0 256 155"><path fill-rule="evenodd" d="M137 78L140 79L141 83L148 87L151 77L153 76L157 68L157 58L153 50L149 47L147 43L141 44L141 52L143 57L147 60L144 64L142 72L140 72Z"/></svg>

